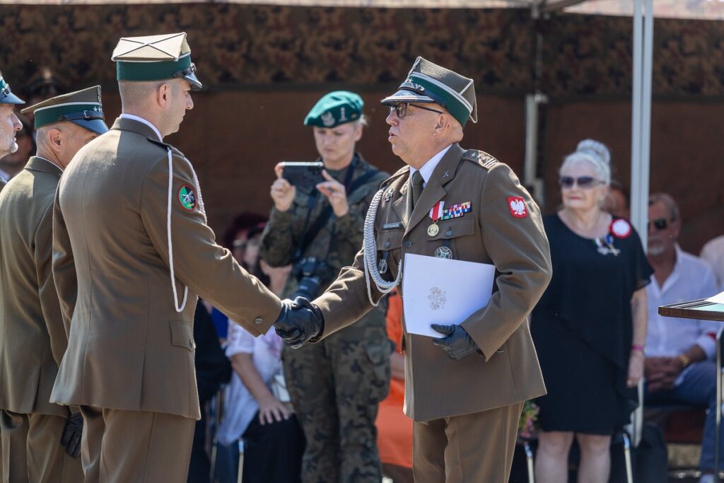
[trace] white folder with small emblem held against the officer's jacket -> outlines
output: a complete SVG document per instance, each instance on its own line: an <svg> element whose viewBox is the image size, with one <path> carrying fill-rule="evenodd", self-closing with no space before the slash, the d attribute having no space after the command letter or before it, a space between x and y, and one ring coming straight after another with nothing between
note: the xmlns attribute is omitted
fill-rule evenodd
<svg viewBox="0 0 724 483"><path fill-rule="evenodd" d="M495 266L405 254L403 310L411 334L444 337L430 324L460 324L487 306Z"/></svg>

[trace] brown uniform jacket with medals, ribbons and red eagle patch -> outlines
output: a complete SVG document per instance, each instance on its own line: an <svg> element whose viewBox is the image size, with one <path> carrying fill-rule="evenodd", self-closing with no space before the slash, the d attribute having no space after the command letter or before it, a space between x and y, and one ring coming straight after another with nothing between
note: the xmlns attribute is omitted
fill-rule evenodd
<svg viewBox="0 0 724 483"><path fill-rule="evenodd" d="M384 183L385 195L376 212L377 256L389 252L387 278L397 275L405 253L433 256L441 245L452 250L453 259L494 264L498 276L488 305L461 324L482 355L453 361L433 345L432 337L403 331L405 413L416 421L429 421L543 395L526 319L551 277L538 206L507 165L481 151L463 151L457 144L440 160L413 211L408 177L405 167ZM440 200L445 206L469 201L471 211L440 220L439 232L430 236L429 211ZM360 251L353 266L343 269L314 301L324 314L323 337L371 307L362 257ZM372 290L379 299L374 283Z"/></svg>

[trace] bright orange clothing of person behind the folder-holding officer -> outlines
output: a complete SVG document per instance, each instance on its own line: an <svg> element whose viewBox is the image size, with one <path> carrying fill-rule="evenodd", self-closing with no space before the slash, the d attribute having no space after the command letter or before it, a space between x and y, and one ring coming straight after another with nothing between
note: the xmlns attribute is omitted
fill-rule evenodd
<svg viewBox="0 0 724 483"><path fill-rule="evenodd" d="M387 337L395 342L400 352L403 327L401 316L403 303L397 290L390 293L387 308ZM412 427L413 421L403 413L405 402L405 380L390 380L390 394L379 403L377 420L377 446L382 463L412 468Z"/></svg>

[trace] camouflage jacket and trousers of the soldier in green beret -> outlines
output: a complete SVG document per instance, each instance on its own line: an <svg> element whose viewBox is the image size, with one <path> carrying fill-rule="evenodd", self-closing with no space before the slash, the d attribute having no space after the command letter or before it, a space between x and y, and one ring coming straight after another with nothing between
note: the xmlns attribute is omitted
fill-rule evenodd
<svg viewBox="0 0 724 483"><path fill-rule="evenodd" d="M359 154L355 158L350 185L375 169ZM344 183L348 169L329 170L329 174ZM362 246L367 208L387 176L378 172L348 193L349 213L340 219L332 214L308 244L303 257L327 257L330 268L322 276L323 288L337 277L342 266L354 260ZM293 262L309 209L309 195L302 191L298 188L289 211L271 210L261 237L261 258L272 266ZM308 226L327 206L327 198L319 194ZM282 295L290 297L297 285L298 280L291 276ZM287 389L307 440L302 463L304 483L379 483L382 479L374 420L379 401L389 390L392 351L382 306L319 344L284 350Z"/></svg>

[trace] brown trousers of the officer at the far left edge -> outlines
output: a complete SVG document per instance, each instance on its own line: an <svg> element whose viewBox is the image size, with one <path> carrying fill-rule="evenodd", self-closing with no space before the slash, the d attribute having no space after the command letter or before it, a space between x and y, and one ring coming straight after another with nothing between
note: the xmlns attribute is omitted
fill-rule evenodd
<svg viewBox="0 0 724 483"><path fill-rule="evenodd" d="M66 422L63 416L1 411L2 481L83 482L80 458L72 458L60 444Z"/></svg>

